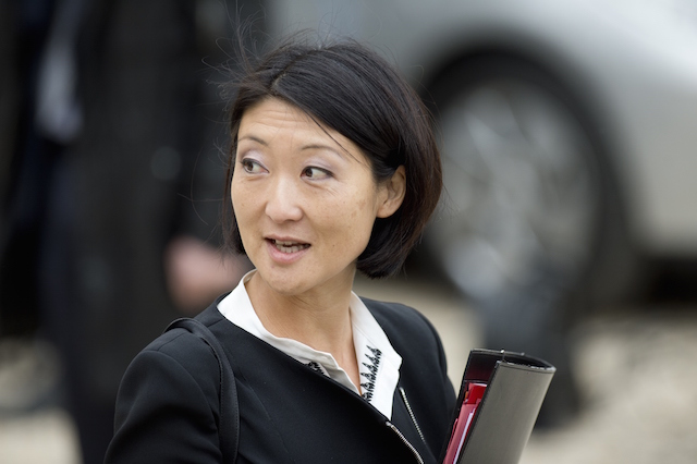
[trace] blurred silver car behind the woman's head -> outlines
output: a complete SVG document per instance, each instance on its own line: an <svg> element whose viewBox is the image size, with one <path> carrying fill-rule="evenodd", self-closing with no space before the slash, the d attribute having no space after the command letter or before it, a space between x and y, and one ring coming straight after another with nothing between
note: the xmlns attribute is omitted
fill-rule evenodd
<svg viewBox="0 0 697 464"><path fill-rule="evenodd" d="M426 247L474 301L608 297L643 257L697 256L697 1L268 3L272 35L370 42L431 105Z"/></svg>

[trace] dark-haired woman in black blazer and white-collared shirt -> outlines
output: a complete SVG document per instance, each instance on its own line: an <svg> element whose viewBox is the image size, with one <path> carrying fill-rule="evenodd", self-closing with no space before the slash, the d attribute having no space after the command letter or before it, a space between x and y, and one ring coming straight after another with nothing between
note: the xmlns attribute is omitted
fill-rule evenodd
<svg viewBox="0 0 697 464"><path fill-rule="evenodd" d="M454 391L416 310L362 300L433 211L440 158L409 86L355 42L291 42L237 85L225 224L255 270L197 316L239 395L239 463L435 463ZM220 462L218 366L183 330L126 371L108 463Z"/></svg>

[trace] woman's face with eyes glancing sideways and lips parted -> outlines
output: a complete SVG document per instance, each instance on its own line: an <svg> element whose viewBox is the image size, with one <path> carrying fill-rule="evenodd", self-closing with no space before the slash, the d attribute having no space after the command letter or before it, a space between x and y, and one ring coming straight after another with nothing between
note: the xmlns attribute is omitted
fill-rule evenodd
<svg viewBox="0 0 697 464"><path fill-rule="evenodd" d="M247 256L273 291L350 288L376 217L401 204L393 191L376 184L355 144L296 107L268 98L244 113L232 206Z"/></svg>

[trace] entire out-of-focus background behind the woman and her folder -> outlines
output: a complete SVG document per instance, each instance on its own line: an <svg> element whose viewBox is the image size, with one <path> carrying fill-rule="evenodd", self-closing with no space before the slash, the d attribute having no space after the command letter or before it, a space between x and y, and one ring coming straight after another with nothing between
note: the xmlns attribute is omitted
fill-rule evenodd
<svg viewBox="0 0 697 464"><path fill-rule="evenodd" d="M0 5L0 462L101 462L127 362L248 268L216 255L245 21L369 42L431 109L439 211L356 289L427 314L455 384L472 347L558 367L523 462L694 462L694 0Z"/></svg>

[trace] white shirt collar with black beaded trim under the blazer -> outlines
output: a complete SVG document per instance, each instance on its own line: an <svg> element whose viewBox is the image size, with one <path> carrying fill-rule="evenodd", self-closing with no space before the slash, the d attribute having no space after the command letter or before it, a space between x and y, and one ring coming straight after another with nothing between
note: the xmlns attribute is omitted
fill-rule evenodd
<svg viewBox="0 0 697 464"><path fill-rule="evenodd" d="M348 306L353 344L360 373L360 386L355 386L330 353L315 350L297 340L276 337L266 330L245 288L254 272L256 270L242 278L237 286L218 304L218 310L235 326L360 394L383 415L392 418L392 398L400 380L402 356L394 351L360 298L351 292Z"/></svg>

